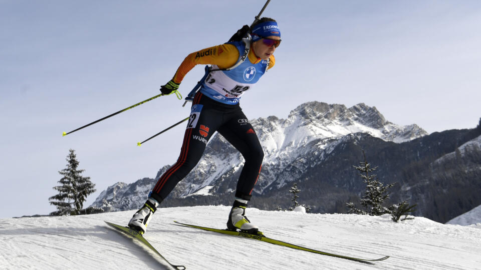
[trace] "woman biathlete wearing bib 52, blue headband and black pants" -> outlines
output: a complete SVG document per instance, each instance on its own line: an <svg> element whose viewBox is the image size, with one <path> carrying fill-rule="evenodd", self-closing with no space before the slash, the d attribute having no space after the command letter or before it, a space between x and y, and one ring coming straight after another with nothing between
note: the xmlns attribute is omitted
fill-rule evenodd
<svg viewBox="0 0 481 270"><path fill-rule="evenodd" d="M217 131L245 159L227 228L261 233L258 226L247 219L245 211L259 177L264 152L253 126L239 106L239 99L274 66L273 53L281 42L281 33L274 19L263 17L251 26L251 36L252 39L244 38L190 53L173 78L161 86L162 93L174 93L185 74L196 64L211 65L193 97L177 162L160 176L145 204L130 219L129 227L140 233L146 231L159 204L197 164L207 141Z"/></svg>

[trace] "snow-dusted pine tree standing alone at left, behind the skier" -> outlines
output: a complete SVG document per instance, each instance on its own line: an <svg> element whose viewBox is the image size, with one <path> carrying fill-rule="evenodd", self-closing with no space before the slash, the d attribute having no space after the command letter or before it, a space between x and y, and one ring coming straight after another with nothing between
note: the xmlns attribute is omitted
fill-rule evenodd
<svg viewBox="0 0 481 270"><path fill-rule="evenodd" d="M90 177L81 175L84 169L78 169L79 161L75 155L75 150L70 149L67 156L67 167L60 170L63 177L58 181L60 185L53 188L59 193L49 198L50 204L57 207L57 211L51 215L77 215L83 213L101 212L99 208L82 209L87 196L95 192L95 184L90 181Z"/></svg>

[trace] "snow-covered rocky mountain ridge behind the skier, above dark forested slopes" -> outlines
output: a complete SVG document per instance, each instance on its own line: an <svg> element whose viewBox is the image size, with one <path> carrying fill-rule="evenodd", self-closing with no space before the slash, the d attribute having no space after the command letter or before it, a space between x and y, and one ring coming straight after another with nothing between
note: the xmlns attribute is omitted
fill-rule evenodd
<svg viewBox="0 0 481 270"><path fill-rule="evenodd" d="M325 160L331 151L355 133L365 133L396 143L426 135L419 126L399 126L387 121L376 107L359 103L347 108L318 101L304 103L287 119L276 116L250 121L265 152L261 176L254 189L262 194L291 182L292 175L306 166ZM244 158L223 137L214 134L194 170L183 179L171 197L192 194L232 193ZM155 179L168 166L159 170ZM106 210L127 210L140 206L156 180L143 178L132 184L116 183L104 190L92 204Z"/></svg>

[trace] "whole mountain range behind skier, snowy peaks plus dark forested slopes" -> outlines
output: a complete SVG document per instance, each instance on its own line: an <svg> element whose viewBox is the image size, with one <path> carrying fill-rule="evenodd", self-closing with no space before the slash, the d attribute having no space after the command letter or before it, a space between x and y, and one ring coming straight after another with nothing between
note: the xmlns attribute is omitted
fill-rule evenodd
<svg viewBox="0 0 481 270"><path fill-rule="evenodd" d="M481 158L477 159L474 146L465 147L466 154L460 156L466 166L472 167L469 173L449 158L458 146L479 136L478 129L428 135L415 124L391 123L375 107L364 103L347 108L317 101L298 106L287 119L269 116L251 123L265 152L252 206L288 207L289 188L297 182L302 190L299 201L311 205L313 212L345 212L345 202L356 201L365 188L352 168L362 161L363 151L371 164L379 166L376 173L382 182L397 182L392 202L409 199L418 204L418 215L445 222L481 204L475 193L481 191L476 185L479 166L475 166ZM243 162L240 153L214 134L200 162L161 206L229 205ZM161 168L156 178L168 167ZM444 169L447 167L449 173ZM463 177L453 179L457 173ZM155 182L143 178L131 184L116 183L92 206L107 211L137 209ZM453 193L448 192L452 184L456 185ZM449 205L452 199L461 202Z"/></svg>

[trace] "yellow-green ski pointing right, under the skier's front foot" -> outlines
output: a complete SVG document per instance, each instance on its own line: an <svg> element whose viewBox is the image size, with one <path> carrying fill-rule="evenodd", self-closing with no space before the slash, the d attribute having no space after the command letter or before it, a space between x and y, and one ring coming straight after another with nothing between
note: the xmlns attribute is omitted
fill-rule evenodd
<svg viewBox="0 0 481 270"><path fill-rule="evenodd" d="M174 222L177 223L177 224L192 227L192 228L198 228L198 229L223 233L223 234L227 234L227 235L242 236L242 237L246 237L246 238L260 240L260 241L263 241L263 242L287 246L287 247L291 247L291 248L294 248L294 249L305 250L305 251L318 253L318 254L322 254L322 255L328 255L328 256L333 256L333 257L338 257L338 258L355 260L355 261L364 262L364 263L370 263L371 261L380 261L380 260L387 259L389 257L389 256L384 256L384 257L378 258L378 259L356 258L356 257L351 257L351 256L344 256L344 255L338 255L338 254L333 254L333 253L329 253L329 252L319 251L319 250L312 249L312 248L309 248L309 247L304 247L304 246L300 246L300 245L297 245L297 244L292 244L292 243L284 242L284 241L281 241L281 240L276 240L276 239L273 239L273 238L269 238L267 236L246 233L246 232L243 232L243 231L233 231L233 230L228 230L228 229L217 229L217 228L203 227L203 226L197 226L197 225L192 225L192 224L185 224L185 223L181 223L181 222L178 222L178 221L174 221Z"/></svg>

